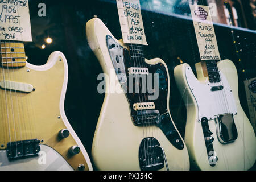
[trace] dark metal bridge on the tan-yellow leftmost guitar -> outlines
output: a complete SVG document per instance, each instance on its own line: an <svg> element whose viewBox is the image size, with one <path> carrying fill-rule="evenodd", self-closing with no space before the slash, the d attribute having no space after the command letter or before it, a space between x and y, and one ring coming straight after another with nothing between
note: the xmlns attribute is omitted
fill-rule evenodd
<svg viewBox="0 0 256 182"><path fill-rule="evenodd" d="M38 155L40 151L39 143L40 140L38 139L9 142L6 149L7 158L15 160Z"/></svg>

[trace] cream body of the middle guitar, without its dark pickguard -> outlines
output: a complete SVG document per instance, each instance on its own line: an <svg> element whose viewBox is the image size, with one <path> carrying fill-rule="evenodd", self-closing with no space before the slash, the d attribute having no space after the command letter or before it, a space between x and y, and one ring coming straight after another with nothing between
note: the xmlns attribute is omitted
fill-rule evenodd
<svg viewBox="0 0 256 182"><path fill-rule="evenodd" d="M111 72L114 72L113 63L106 44L107 35L112 36L115 42L127 48L122 41L118 41L113 37L100 19L93 18L86 23L86 36L89 46L100 61L105 78L111 77ZM165 112L175 127L168 108L170 82L167 66L159 58L146 59L145 62L146 65L151 65L150 70L163 69L168 78L168 87L163 93L163 96L166 94L166 97L164 101L159 101L159 104L155 100L155 106L156 108L160 108L160 105L162 105L163 108L167 108ZM127 69L129 67L127 64L129 63L125 64ZM163 131L156 125L147 127L136 126L131 118L131 115L135 114L132 107L133 103L131 103L133 102L133 98L123 92L116 75L115 89L119 90L118 92L111 92L113 88L111 82L105 79L105 98L93 139L92 157L96 168L100 170L141 170L139 163L140 144L144 138L154 137L165 151L170 170L188 170L189 158L186 146L184 145L182 150L174 147L166 135L164 135ZM159 98L162 99L161 94L159 92ZM180 134L177 134L180 137ZM182 140L181 137L180 139ZM160 170L166 169L166 165L164 165Z"/></svg>

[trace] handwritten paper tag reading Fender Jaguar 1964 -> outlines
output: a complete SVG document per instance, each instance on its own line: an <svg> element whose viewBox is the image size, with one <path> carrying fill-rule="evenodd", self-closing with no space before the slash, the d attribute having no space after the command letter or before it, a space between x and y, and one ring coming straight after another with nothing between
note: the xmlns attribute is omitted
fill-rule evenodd
<svg viewBox="0 0 256 182"><path fill-rule="evenodd" d="M117 0L123 42L147 45L139 0Z"/></svg>

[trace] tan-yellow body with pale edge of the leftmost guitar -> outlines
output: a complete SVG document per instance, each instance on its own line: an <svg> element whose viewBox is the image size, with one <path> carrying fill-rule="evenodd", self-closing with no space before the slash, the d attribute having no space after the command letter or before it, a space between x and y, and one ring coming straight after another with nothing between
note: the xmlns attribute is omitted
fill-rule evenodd
<svg viewBox="0 0 256 182"><path fill-rule="evenodd" d="M0 89L1 150L0 170L92 170L89 156L73 131L64 111L68 65L63 53L53 52L45 65L27 63L25 67L0 69L0 79L31 84L30 93ZM4 121L4 122L2 122ZM10 130L9 130L10 129ZM69 130L61 139L59 131ZM39 155L7 159L6 144L21 140L40 140ZM79 146L76 155L69 148ZM81 165L80 165L81 167Z"/></svg>

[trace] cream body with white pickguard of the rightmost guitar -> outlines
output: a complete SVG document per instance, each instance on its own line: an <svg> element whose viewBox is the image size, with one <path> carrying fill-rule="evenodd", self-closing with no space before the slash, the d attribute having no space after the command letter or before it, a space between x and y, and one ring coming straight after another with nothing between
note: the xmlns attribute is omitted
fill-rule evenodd
<svg viewBox="0 0 256 182"><path fill-rule="evenodd" d="M247 170L255 163L256 138L253 127L240 105L237 70L230 60L218 62L217 67L222 80L220 83L210 83L208 78L204 77L201 63L196 64L198 79L188 64L178 65L174 69L176 83L187 107L185 143L191 165L194 169L201 170ZM219 85L222 85L223 89L212 92L211 88L217 88ZM214 117L223 113L233 113L237 138L232 142L223 143L218 135L217 120ZM213 133L212 147L217 160L208 160L210 143L205 143L201 119L203 117L208 119L209 130Z"/></svg>

